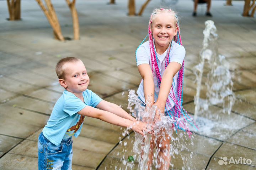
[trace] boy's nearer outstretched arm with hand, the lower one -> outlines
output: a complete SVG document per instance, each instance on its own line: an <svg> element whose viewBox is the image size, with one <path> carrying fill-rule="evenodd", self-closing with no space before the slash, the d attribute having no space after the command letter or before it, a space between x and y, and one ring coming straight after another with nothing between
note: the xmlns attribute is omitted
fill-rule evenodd
<svg viewBox="0 0 256 170"><path fill-rule="evenodd" d="M142 123L140 121L132 121L125 118L121 118L118 115L115 115L111 112L102 111L100 109L97 109L91 106L86 106L81 111L79 111L78 114L85 115L92 118L97 118L117 126L132 127L132 130L140 133L143 136L144 136L144 131L148 131L145 123Z"/></svg>

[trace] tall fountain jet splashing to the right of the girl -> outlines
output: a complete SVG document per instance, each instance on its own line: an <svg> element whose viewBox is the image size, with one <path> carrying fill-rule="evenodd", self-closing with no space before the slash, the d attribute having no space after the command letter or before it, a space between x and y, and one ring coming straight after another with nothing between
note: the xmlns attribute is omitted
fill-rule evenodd
<svg viewBox="0 0 256 170"><path fill-rule="evenodd" d="M205 25L203 49L200 52L201 62L194 67L197 82L197 92L194 97L194 120L203 112L209 112L210 105L218 105L223 108L223 113L230 114L235 102L229 65L225 61L225 56L218 53L217 29L213 21L208 20ZM207 70L205 76L204 69ZM200 97L202 96L202 79L204 77L206 77L206 97L203 99Z"/></svg>

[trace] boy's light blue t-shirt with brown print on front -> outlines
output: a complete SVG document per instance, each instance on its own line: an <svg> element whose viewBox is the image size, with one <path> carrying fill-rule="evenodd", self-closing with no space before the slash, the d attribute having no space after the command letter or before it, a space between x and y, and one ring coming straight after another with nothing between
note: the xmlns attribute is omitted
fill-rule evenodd
<svg viewBox="0 0 256 170"><path fill-rule="evenodd" d="M78 114L86 106L96 107L102 99L91 90L83 92L84 102L69 91L64 91L53 107L52 114L43 128L43 135L54 145L74 135L78 137L85 116Z"/></svg>

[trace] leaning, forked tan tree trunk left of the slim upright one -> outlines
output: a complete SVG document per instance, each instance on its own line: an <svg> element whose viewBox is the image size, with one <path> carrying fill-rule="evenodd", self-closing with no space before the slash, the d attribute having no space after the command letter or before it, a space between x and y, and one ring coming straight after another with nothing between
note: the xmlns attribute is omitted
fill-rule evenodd
<svg viewBox="0 0 256 170"><path fill-rule="evenodd" d="M61 28L60 28L60 24L59 24L59 21L58 21L58 17L56 15L56 12L54 10L52 2L50 0L45 0L46 6L48 8L48 10L47 10L41 0L36 0L36 1L38 2L38 4L41 7L42 11L46 15L46 18L48 19L50 25L52 26L53 34L54 34L55 38L60 40L60 41L64 41L64 37L63 37L62 32L61 32Z"/></svg>

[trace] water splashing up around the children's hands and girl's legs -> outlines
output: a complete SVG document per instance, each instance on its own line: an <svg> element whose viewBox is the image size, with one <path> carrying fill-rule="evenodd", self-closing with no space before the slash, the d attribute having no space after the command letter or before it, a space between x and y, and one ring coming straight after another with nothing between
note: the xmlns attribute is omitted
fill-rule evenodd
<svg viewBox="0 0 256 170"><path fill-rule="evenodd" d="M135 94L134 90L129 90L128 95L128 109L130 113L136 117L138 120L142 120L144 122L147 122L148 128L150 129L152 125L154 124L154 116L155 111L157 108L152 107L151 109L148 109L145 111L145 107L143 106L142 102L139 100L138 96ZM149 102L149 101L147 101ZM182 169L193 169L191 168L192 165L187 162L189 158L192 157L193 153L189 151L189 149L186 146L193 145L193 142L188 137L186 132L183 131L176 131L173 129L172 123L174 123L174 120L171 119L169 116L163 116L160 121L154 124L153 131L155 138L153 139L155 145L158 144L153 152L153 160L152 160L152 166L154 168L159 168L161 164L170 164L172 168L175 168L174 162L175 159L179 159L181 162L183 162ZM123 133L123 136L127 135L129 130L126 130L126 132ZM165 134L168 135L162 135L163 131L165 131ZM157 142L157 139L161 139ZM118 152L118 155L123 155L120 159L123 166L122 168L119 168L119 170L126 170L126 169L139 169L139 170L146 170L148 169L148 159L149 159L149 151L150 151L150 141L152 140L151 134L146 134L145 136L142 136L138 133L135 133L134 137L128 136L128 143L127 141L122 142L122 151ZM170 148L169 150L166 149L164 152L164 156L171 155L171 162L165 162L165 160L161 157L159 157L160 149L163 148L163 141L168 138L171 139L171 143L166 146L166 148ZM193 138L193 136L192 136ZM132 145L133 143L133 152L129 151L128 147L129 145ZM132 156L130 155L132 154ZM138 168L135 166L138 166Z"/></svg>

